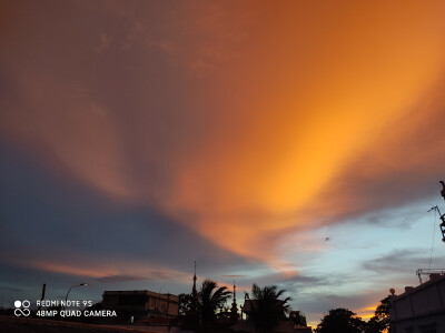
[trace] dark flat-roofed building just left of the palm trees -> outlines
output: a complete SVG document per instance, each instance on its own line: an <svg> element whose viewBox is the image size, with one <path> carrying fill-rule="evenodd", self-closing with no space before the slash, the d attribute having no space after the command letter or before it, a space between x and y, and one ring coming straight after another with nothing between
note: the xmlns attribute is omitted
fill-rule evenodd
<svg viewBox="0 0 445 333"><path fill-rule="evenodd" d="M179 297L148 290L105 291L102 307L116 310L118 315L176 319L179 315Z"/></svg>

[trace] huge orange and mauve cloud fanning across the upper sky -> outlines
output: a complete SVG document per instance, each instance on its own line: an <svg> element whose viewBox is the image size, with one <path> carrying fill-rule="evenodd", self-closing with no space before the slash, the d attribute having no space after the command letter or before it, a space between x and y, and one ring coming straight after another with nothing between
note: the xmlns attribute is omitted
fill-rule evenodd
<svg viewBox="0 0 445 333"><path fill-rule="evenodd" d="M112 40L102 58L93 46L67 61L51 39L30 44L43 56L8 69L20 94L2 102L1 127L118 203L161 206L225 249L285 268L280 235L373 208L378 194L357 196L355 184L439 168L442 145L408 138L424 114L404 118L443 74L445 8L226 6L166 10L156 27L150 11L117 11L122 27L135 20L120 34L96 31L95 46Z"/></svg>

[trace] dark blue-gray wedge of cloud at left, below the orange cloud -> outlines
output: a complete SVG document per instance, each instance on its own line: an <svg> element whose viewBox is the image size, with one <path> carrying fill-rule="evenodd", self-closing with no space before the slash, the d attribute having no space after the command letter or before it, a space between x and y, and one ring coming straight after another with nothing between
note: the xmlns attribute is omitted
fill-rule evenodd
<svg viewBox="0 0 445 333"><path fill-rule="evenodd" d="M208 271L246 263L157 210L119 206L48 174L9 143L3 142L1 148L3 260L12 258L13 251L16 261L56 261L91 268L113 260L141 265L168 263L169 268L190 272L194 260Z"/></svg>

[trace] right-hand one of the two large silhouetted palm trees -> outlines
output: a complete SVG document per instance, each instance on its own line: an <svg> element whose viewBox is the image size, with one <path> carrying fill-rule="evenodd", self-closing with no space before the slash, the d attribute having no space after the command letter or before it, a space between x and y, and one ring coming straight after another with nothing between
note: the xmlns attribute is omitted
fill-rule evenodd
<svg viewBox="0 0 445 333"><path fill-rule="evenodd" d="M290 297L279 300L285 290L277 290L276 285L259 287L254 283L251 286L251 297L246 293L247 301L250 303L248 317L255 324L258 332L271 332L286 317L289 312L288 302Z"/></svg>

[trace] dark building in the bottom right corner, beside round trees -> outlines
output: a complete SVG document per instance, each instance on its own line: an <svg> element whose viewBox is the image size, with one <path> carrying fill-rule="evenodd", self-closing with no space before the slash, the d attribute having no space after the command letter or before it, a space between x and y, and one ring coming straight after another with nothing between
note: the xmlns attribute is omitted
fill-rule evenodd
<svg viewBox="0 0 445 333"><path fill-rule="evenodd" d="M431 274L429 281L405 287L390 300L392 333L445 332L445 275Z"/></svg>

